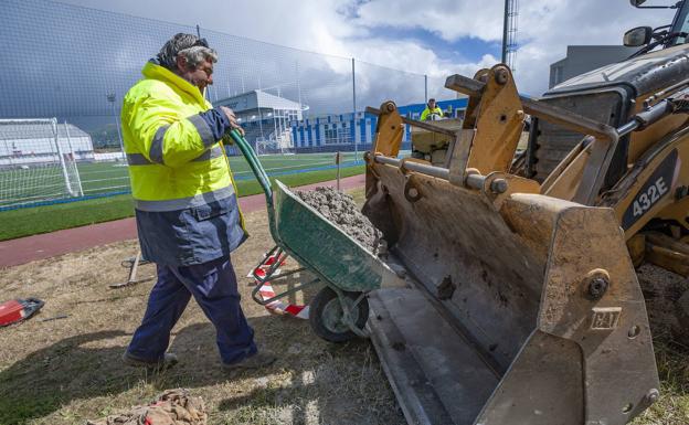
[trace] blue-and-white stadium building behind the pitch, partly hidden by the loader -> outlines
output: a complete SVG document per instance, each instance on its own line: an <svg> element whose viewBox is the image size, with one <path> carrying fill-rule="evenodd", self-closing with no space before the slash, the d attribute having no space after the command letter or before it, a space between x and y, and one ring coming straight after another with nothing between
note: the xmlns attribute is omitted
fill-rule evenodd
<svg viewBox="0 0 689 425"><path fill-rule="evenodd" d="M468 99L459 98L441 100L438 106L453 118L464 117ZM425 104L399 106L400 115L412 119L420 119ZM332 114L322 117L307 118L292 123L292 140L297 152L314 151L350 151L364 150L371 147L375 137L375 115L357 113ZM410 149L411 127L405 126L403 149Z"/></svg>

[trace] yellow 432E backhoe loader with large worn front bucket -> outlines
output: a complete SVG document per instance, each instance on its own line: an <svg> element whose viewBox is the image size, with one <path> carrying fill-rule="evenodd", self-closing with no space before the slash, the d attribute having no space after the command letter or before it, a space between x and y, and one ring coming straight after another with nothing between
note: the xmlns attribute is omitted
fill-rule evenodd
<svg viewBox="0 0 689 425"><path fill-rule="evenodd" d="M368 109L363 213L405 279L369 295L368 328L410 424L617 425L661 396L635 266L689 274L689 2L675 7L669 28L625 34L634 57L539 99L505 64L449 76L469 96L458 130ZM399 159L405 124L451 137L443 161Z"/></svg>

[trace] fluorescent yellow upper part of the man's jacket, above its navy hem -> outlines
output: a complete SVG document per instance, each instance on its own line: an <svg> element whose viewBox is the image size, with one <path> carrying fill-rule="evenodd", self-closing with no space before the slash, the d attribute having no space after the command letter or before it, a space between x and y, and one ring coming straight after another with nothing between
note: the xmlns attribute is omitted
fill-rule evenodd
<svg viewBox="0 0 689 425"><path fill-rule="evenodd" d="M212 105L198 87L148 62L121 110L135 206L176 211L234 195L230 164L198 114Z"/></svg>

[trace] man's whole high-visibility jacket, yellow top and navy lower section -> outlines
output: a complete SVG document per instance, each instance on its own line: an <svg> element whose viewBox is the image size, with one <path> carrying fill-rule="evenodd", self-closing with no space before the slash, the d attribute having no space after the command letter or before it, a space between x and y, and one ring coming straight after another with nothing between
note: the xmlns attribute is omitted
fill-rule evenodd
<svg viewBox="0 0 689 425"><path fill-rule="evenodd" d="M170 266L226 258L248 234L219 129L199 115L211 104L152 62L142 74L121 111L141 254Z"/></svg>

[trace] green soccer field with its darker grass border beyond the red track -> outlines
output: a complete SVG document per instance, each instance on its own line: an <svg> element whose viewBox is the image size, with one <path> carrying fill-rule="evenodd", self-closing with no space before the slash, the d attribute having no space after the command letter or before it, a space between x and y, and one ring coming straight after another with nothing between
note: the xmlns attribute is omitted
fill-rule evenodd
<svg viewBox="0 0 689 425"><path fill-rule="evenodd" d="M341 177L363 172L363 164L352 167L354 153L343 153ZM335 153L273 155L259 157L261 162L273 177L287 185L296 187L336 178ZM243 157L231 157L232 168L240 196L261 193L261 188ZM84 195L121 193L129 190L127 167L116 162L80 163L80 176ZM64 198L62 169L14 169L0 171L0 206L29 198L41 201ZM0 241L32 234L53 232L134 215L129 194L88 199L78 202L57 203L0 211Z"/></svg>

